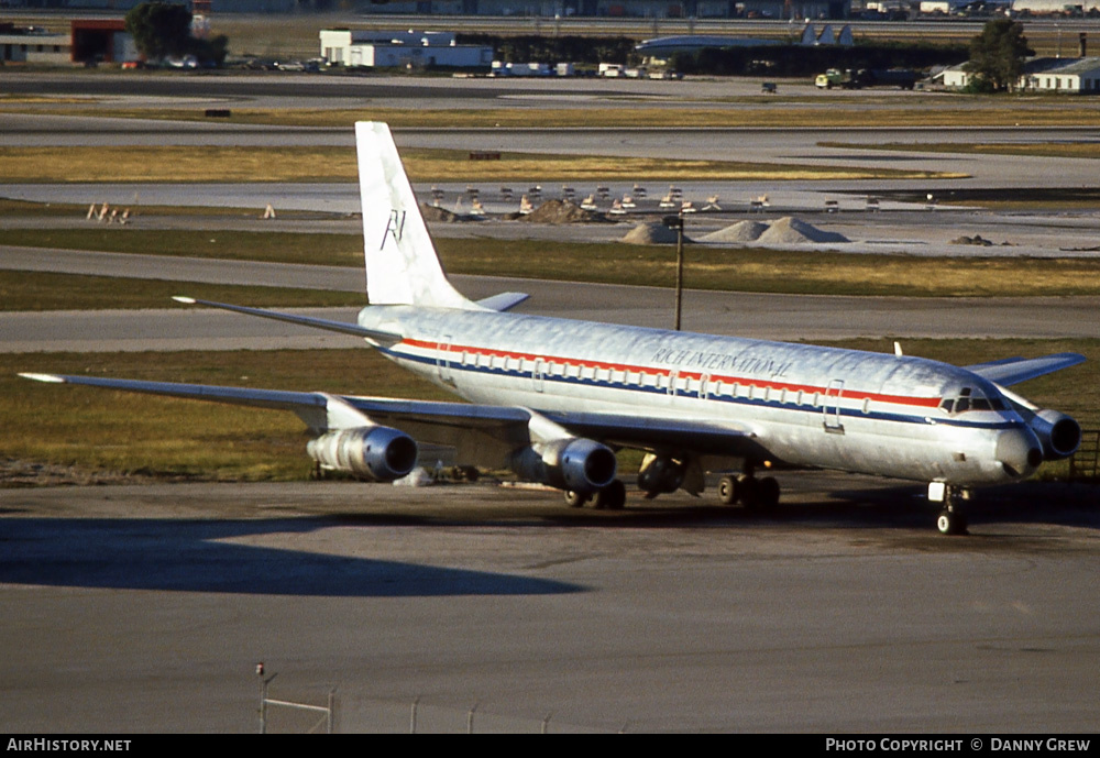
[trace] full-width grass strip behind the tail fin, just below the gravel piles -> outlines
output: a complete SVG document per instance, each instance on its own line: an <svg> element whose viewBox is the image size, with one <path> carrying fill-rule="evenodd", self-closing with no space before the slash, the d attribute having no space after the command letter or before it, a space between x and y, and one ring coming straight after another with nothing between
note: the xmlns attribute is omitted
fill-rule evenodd
<svg viewBox="0 0 1100 758"><path fill-rule="evenodd" d="M14 230L0 235L0 243L315 263L355 268L362 265L362 239L356 234L227 231L217 232L217 237L210 234L146 230L119 232L107 229L57 232ZM439 239L437 246L444 268L452 274L656 287L671 287L675 281L675 251L671 245ZM695 289L911 297L1100 295L1100 260L1089 257L946 259L690 245L685 261L685 286ZM116 305L112 295L119 288L132 286L134 285L111 285L108 289L110 294L105 296L103 305L98 307L124 307ZM179 287L179 284L170 285L176 290ZM7 289L11 292L12 299L4 301L0 308L22 309L12 305L22 301L18 287L9 285ZM48 290L40 293L42 298L48 296ZM296 297L312 299L314 296L298 294ZM297 301L301 303L301 299ZM46 305L41 307L51 307L48 299L44 303ZM65 292L57 292L53 303L55 308L70 307L66 305ZM97 306L89 299L86 307Z"/></svg>

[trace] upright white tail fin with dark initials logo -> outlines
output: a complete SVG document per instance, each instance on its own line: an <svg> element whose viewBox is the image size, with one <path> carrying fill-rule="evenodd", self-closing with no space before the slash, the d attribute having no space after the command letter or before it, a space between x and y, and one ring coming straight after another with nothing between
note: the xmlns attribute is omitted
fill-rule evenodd
<svg viewBox="0 0 1100 758"><path fill-rule="evenodd" d="M366 297L372 305L481 310L447 281L389 127L355 124Z"/></svg>

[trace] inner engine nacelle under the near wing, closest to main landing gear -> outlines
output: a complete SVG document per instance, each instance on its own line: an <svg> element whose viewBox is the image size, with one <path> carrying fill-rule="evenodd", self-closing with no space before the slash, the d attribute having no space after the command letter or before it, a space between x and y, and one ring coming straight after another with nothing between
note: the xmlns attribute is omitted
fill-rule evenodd
<svg viewBox="0 0 1100 758"><path fill-rule="evenodd" d="M568 437L513 453L512 470L520 477L591 495L615 480L618 461L606 444Z"/></svg>

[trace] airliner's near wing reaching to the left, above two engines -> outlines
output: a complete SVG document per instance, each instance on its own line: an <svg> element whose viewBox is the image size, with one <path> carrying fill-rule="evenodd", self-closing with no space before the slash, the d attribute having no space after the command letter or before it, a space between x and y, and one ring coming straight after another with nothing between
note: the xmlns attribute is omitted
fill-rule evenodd
<svg viewBox="0 0 1100 758"><path fill-rule="evenodd" d="M600 413L538 413L519 406L409 400L392 397L327 395L315 392L256 389L209 384L145 382L65 374L20 374L24 378L79 384L151 395L212 400L231 405L290 410L315 432L339 428L330 414L330 398L393 426L422 442L447 444L462 451L463 462L498 466L514 450L532 442L530 422L536 415L570 433L612 446L644 450L676 450L706 455L759 454L761 447L746 429L675 418L650 418Z"/></svg>

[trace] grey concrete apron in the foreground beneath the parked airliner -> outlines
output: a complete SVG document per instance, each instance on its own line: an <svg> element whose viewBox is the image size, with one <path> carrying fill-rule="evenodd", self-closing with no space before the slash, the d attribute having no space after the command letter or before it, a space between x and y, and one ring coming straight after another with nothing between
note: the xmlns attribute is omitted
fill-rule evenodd
<svg viewBox="0 0 1100 758"><path fill-rule="evenodd" d="M1096 729L1094 507L790 474L748 517L490 485L0 491L11 732ZM1015 493L1014 495L1007 494ZM273 708L270 728L317 721Z"/></svg>

